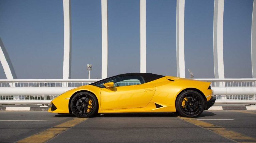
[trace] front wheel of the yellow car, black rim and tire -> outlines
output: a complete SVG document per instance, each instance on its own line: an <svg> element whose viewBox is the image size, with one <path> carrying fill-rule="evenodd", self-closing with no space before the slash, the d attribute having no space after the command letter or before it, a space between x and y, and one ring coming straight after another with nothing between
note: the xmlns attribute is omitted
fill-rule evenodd
<svg viewBox="0 0 256 143"><path fill-rule="evenodd" d="M93 117L98 113L98 100L89 92L79 92L73 96L70 102L72 113L81 118Z"/></svg>

